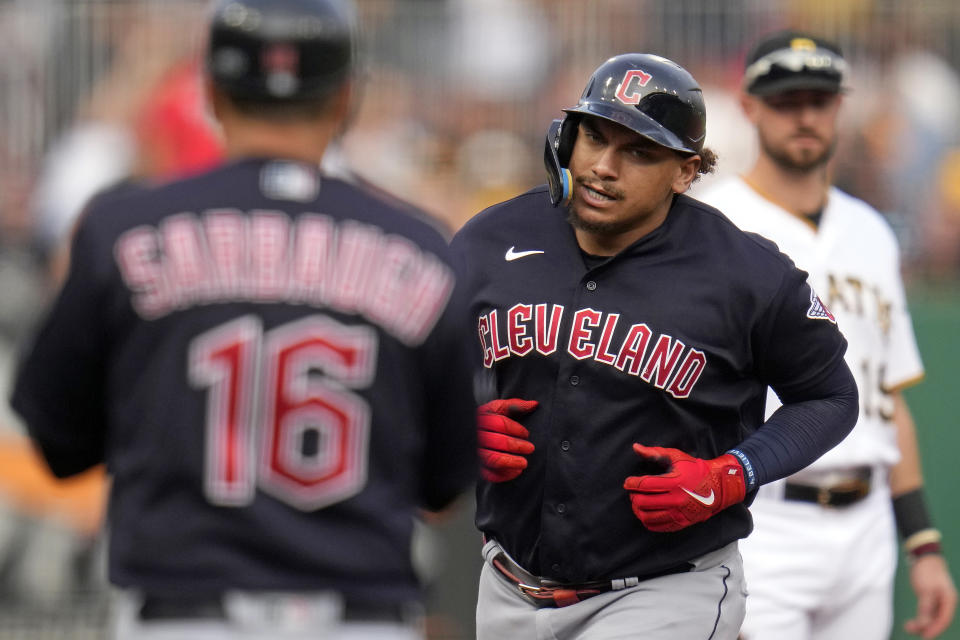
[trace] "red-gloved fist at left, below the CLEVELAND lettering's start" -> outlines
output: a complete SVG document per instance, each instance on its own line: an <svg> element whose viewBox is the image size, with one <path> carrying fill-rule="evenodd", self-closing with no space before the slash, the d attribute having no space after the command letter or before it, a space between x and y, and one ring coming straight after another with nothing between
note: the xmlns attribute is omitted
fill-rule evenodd
<svg viewBox="0 0 960 640"><path fill-rule="evenodd" d="M536 400L491 400L477 409L477 454L480 476L488 482L506 482L527 468L524 457L533 453L530 432L516 421L537 408Z"/></svg>

